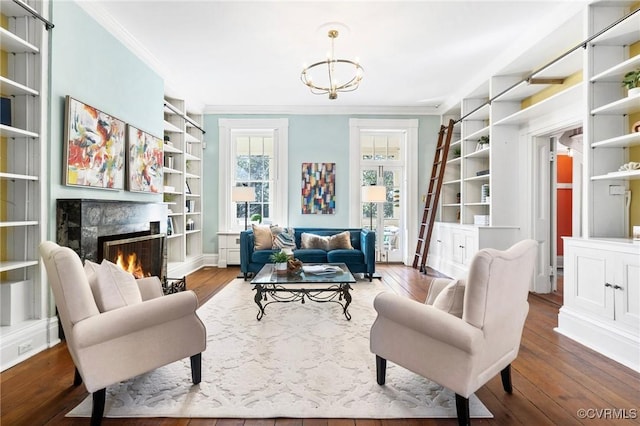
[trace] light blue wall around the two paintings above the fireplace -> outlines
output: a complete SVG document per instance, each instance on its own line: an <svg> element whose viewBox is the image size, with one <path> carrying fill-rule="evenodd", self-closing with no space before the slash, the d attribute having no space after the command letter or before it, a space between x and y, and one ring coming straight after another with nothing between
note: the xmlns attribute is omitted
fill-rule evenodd
<svg viewBox="0 0 640 426"><path fill-rule="evenodd" d="M65 97L162 137L164 81L77 3L51 2L51 18L48 211L54 238L58 198L162 201L161 195L63 185Z"/></svg>

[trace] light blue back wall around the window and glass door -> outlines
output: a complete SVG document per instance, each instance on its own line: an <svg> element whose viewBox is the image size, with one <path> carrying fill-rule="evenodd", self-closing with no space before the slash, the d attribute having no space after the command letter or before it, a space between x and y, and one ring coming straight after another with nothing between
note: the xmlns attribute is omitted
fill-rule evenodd
<svg viewBox="0 0 640 426"><path fill-rule="evenodd" d="M219 118L287 118L289 120L289 226L346 227L349 209L358 208L349 200L349 119L418 119L418 168L419 194L426 191L427 179L440 127L439 116L355 116L355 115L205 115L204 129L207 148L203 164L203 251L218 252L218 159ZM302 215L300 213L301 164L336 163L336 214ZM419 194L415 194L419 197ZM422 206L420 207L422 212Z"/></svg>

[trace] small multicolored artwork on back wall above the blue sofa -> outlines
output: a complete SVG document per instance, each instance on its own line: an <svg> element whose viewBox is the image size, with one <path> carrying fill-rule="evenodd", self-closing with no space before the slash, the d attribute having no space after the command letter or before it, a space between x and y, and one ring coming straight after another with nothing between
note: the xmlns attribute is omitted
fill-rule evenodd
<svg viewBox="0 0 640 426"><path fill-rule="evenodd" d="M335 214L336 163L302 163L302 214Z"/></svg>

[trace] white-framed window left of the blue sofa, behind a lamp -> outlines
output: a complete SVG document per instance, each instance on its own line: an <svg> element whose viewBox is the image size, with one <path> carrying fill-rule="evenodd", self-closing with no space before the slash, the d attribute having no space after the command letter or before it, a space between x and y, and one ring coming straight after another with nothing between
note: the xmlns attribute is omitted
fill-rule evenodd
<svg viewBox="0 0 640 426"><path fill-rule="evenodd" d="M287 223L286 119L219 119L218 229L243 230L245 217L262 216L263 223ZM234 186L255 188L255 201L231 200Z"/></svg>

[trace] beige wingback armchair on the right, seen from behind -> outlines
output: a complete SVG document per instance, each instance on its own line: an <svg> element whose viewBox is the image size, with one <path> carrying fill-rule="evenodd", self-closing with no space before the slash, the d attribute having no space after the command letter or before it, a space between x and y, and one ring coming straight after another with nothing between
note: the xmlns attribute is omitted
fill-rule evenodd
<svg viewBox="0 0 640 426"><path fill-rule="evenodd" d="M385 383L387 360L429 378L456 393L461 425L469 424L469 396L499 372L511 393L536 252L533 240L480 250L466 282L434 280L425 303L379 294L370 341L378 384Z"/></svg>

